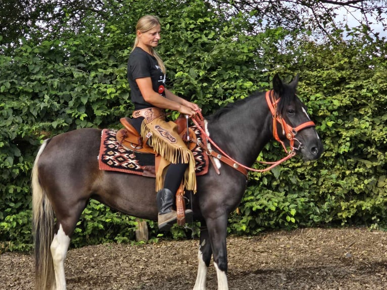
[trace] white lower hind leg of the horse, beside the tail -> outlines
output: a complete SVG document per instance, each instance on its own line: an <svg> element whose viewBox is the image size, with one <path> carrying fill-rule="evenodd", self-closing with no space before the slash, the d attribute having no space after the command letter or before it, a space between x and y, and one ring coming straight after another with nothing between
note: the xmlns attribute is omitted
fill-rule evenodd
<svg viewBox="0 0 387 290"><path fill-rule="evenodd" d="M65 259L69 245L70 237L65 234L60 225L50 247L54 262L56 290L66 290Z"/></svg>

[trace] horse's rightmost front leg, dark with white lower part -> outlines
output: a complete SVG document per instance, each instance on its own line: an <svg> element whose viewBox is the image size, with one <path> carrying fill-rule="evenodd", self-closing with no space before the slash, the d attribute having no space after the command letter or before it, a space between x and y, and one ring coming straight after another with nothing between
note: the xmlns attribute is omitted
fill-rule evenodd
<svg viewBox="0 0 387 290"><path fill-rule="evenodd" d="M227 215L206 220L214 265L218 278L218 290L228 290L227 282Z"/></svg>

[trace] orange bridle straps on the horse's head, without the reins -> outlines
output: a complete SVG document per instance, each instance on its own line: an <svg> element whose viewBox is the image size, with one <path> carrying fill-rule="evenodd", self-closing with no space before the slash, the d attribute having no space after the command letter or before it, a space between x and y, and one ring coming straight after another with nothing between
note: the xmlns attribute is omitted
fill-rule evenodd
<svg viewBox="0 0 387 290"><path fill-rule="evenodd" d="M315 127L316 125L314 124L313 121L302 123L298 125L296 128L287 124L285 119L283 119L280 115L277 114L277 104L279 100L280 98L275 99L273 90L266 92L266 102L270 108L271 114L273 115L273 136L278 142L282 144L282 147L285 150L285 152L288 153L285 143L278 136L278 131L277 131L277 122L278 122L282 127L282 134L285 135L286 138L289 140L291 151L299 150L300 148L302 148L302 143L296 138L297 133L302 129ZM299 143L299 146L297 148L294 147L295 141Z"/></svg>

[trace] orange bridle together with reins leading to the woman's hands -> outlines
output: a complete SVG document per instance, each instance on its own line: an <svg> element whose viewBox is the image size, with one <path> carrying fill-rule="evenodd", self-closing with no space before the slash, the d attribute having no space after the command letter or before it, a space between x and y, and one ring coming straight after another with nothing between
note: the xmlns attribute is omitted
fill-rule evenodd
<svg viewBox="0 0 387 290"><path fill-rule="evenodd" d="M293 128L292 126L289 126L286 121L277 115L276 109L277 109L277 104L279 102L279 99L275 100L274 97L274 92L273 90L267 91L266 92L266 102L267 105L270 108L270 112L273 115L273 136L274 138L282 144L283 149L285 150L285 153L287 153L287 156L282 158L281 160L278 160L276 162L262 162L259 161L259 163L263 164L271 164L271 166L265 168L265 169L255 169L248 167L246 165L243 165L230 156L228 156L223 150L217 146L217 144L210 138L210 136L207 134L207 132L203 129L204 127L204 117L200 111L197 111L197 114L193 117L191 117L192 122L199 128L199 130L206 136L206 139L210 141L211 144L223 155L215 153L213 150L206 148L203 143L197 143L198 146L202 147L205 151L206 154L209 155L210 157L215 157L224 163L228 164L229 166L233 167L234 169L238 170L239 172L243 173L245 176L247 176L248 172L247 170L254 171L254 172L266 172L271 170L272 168L276 167L277 165L283 163L284 161L291 159L293 156L296 155L296 150L300 149L302 147L302 143L295 137L297 135L298 131L301 131L302 129L308 128L308 127L314 127L315 124L313 121L308 121L305 123L302 123L301 125L297 126L296 128ZM291 151L287 151L286 146L284 142L279 138L278 132L277 132L277 126L276 122L278 122L282 126L282 130L286 136L286 138L290 141L291 143ZM295 148L294 147L294 141L297 140L299 142L299 147ZM211 161L213 162L212 158ZM213 162L214 163L214 162ZM215 164L214 164L215 165ZM214 166L217 174L220 174L218 168Z"/></svg>

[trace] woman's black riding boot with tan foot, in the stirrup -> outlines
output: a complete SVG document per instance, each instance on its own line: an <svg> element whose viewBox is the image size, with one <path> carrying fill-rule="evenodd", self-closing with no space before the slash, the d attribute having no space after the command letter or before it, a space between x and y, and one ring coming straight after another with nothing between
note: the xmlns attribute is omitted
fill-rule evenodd
<svg viewBox="0 0 387 290"><path fill-rule="evenodd" d="M167 231L177 222L177 213L173 210L173 200L175 195L168 188L160 189L157 192L157 208L159 210L158 224L159 229ZM192 215L191 210L185 210L185 216Z"/></svg>

